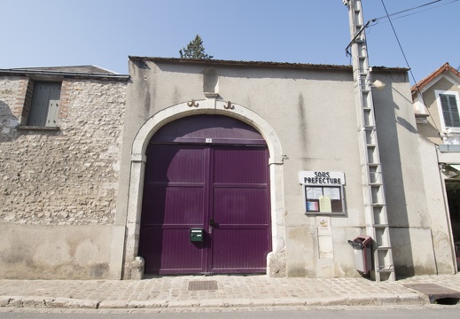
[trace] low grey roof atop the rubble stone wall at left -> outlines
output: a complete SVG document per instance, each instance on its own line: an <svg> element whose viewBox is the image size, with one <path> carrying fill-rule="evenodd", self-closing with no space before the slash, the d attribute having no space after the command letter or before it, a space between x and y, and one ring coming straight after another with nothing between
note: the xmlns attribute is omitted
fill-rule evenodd
<svg viewBox="0 0 460 319"><path fill-rule="evenodd" d="M129 75L117 74L99 66L48 66L48 67L19 67L0 69L0 75L49 75L74 78L97 78L100 80L127 81Z"/></svg>

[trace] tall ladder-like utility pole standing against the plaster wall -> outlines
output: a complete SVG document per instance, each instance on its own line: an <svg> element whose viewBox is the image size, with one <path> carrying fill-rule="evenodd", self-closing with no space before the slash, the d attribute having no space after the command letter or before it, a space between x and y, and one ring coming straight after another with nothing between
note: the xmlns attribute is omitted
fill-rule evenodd
<svg viewBox="0 0 460 319"><path fill-rule="evenodd" d="M355 105L359 132L361 175L366 221L366 233L373 239L376 281L395 280L390 242L382 165L378 153L377 130L370 82L370 67L363 24L361 0L344 0L348 6L351 55L355 81Z"/></svg>

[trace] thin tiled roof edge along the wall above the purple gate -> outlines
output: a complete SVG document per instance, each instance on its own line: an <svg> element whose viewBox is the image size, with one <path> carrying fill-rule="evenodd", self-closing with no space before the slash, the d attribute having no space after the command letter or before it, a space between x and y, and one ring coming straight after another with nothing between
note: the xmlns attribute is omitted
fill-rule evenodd
<svg viewBox="0 0 460 319"><path fill-rule="evenodd" d="M158 57L136 57L129 56L129 60L148 60L153 62L167 62L177 64L206 64L208 66L270 66L270 67L285 67L285 68L304 68L304 69L324 69L324 70L353 70L353 66L337 66L337 65L318 65L306 63L288 63L288 62L264 62L264 61L235 61L235 60L220 60L206 58L158 58ZM407 72L408 68L402 67L386 67L373 66L374 71L387 72Z"/></svg>

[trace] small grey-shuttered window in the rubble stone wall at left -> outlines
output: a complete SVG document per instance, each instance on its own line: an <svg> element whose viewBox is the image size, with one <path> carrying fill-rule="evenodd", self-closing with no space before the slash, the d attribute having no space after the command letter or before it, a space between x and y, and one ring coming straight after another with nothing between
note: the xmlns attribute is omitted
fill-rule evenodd
<svg viewBox="0 0 460 319"><path fill-rule="evenodd" d="M55 127L61 82L35 82L27 126Z"/></svg>

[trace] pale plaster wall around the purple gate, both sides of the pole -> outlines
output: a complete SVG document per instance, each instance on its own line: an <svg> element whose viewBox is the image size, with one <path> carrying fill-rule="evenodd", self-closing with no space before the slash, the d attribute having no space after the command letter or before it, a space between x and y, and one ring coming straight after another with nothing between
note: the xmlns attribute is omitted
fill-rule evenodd
<svg viewBox="0 0 460 319"><path fill-rule="evenodd" d="M243 111L219 109L218 113L237 117L249 124L240 112L256 113L269 124L280 141L283 169L273 176L272 183L283 183L283 211L275 213L285 233L277 243L277 253L285 255L287 276L359 276L355 271L354 254L347 244L365 232L361 167L358 157L355 97L351 68L308 68L280 66L231 66L209 61L175 63L168 59L133 58L130 61L132 82L129 84L123 152L121 160L121 197L129 203L128 193L132 160L132 144L144 123L156 114L173 110L191 100L199 101L187 114L217 113L204 102L203 73L213 66L218 74L217 101L230 101ZM435 273L433 245L426 250L420 242L431 243L430 222L425 190L419 174L422 169L418 154L417 129L410 103L409 82L404 70L391 73L382 70L375 77L386 82L386 89L375 96L378 116L378 138L384 166L390 226L395 242L395 265L405 274ZM205 106L206 105L206 106ZM174 106L174 107L173 107ZM173 121L171 114L163 123ZM257 127L257 125L254 125ZM153 134L153 132L152 132ZM151 135L152 136L152 135ZM136 154L134 154L136 155ZM140 154L142 155L142 154ZM270 154L271 156L272 154ZM137 156L137 155L136 155ZM132 163L132 164L131 164ZM331 236L319 236L315 216L305 215L302 189L298 183L300 170L339 171L346 175L347 214L331 216ZM124 186L123 186L124 185ZM277 194L275 194L277 196ZM121 204L117 220L126 220L129 207ZM138 207L136 213L140 214ZM273 213L272 213L273 215ZM136 217L135 217L136 219ZM139 221L134 220L136 225ZM136 254L136 227L127 247ZM327 243L331 243L331 253ZM323 244L321 244L323 243ZM325 244L324 244L325 243ZM419 256L417 253L422 255ZM408 260L410 261L408 263ZM409 267L407 267L409 265ZM269 269L272 267L269 264ZM276 273L276 271L275 271Z"/></svg>

